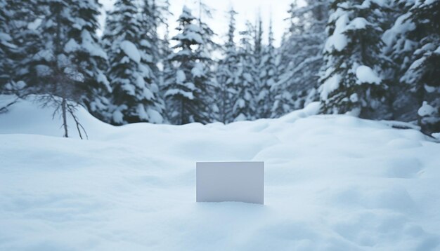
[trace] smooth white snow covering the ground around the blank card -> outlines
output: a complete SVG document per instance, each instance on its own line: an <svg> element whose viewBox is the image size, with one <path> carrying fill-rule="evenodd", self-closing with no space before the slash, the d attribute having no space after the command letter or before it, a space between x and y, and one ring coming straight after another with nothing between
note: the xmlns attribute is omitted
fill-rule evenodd
<svg viewBox="0 0 440 251"><path fill-rule="evenodd" d="M439 250L440 144L316 108L120 128L79 110L77 140L20 102L0 116L0 250ZM195 203L195 161L265 161L266 205Z"/></svg>

